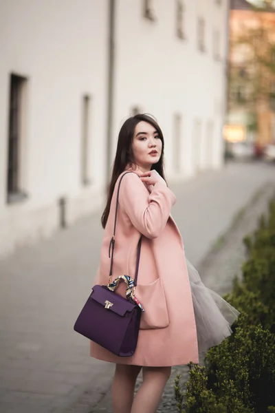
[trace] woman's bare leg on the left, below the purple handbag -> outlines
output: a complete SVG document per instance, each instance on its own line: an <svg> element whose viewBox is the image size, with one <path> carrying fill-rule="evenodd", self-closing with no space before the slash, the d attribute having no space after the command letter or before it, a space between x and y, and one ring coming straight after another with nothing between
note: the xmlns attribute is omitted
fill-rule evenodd
<svg viewBox="0 0 275 413"><path fill-rule="evenodd" d="M140 370L140 366L116 365L111 390L113 413L131 413L135 381Z"/></svg>

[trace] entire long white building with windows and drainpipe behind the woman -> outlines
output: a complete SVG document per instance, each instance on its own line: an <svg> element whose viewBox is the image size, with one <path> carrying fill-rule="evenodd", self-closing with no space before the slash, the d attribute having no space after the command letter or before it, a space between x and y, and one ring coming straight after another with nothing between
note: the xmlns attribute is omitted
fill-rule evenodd
<svg viewBox="0 0 275 413"><path fill-rule="evenodd" d="M228 17L229 0L1 1L0 254L102 206L130 114L157 118L170 181L221 167Z"/></svg>

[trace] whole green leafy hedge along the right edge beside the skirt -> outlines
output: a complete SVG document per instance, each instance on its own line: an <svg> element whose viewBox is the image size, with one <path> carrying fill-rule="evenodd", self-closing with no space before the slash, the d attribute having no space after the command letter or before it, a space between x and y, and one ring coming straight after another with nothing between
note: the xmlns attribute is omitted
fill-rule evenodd
<svg viewBox="0 0 275 413"><path fill-rule="evenodd" d="M206 366L190 363L186 394L175 385L179 413L275 413L275 202L245 237L243 282L224 298L241 315L233 334L208 350Z"/></svg>

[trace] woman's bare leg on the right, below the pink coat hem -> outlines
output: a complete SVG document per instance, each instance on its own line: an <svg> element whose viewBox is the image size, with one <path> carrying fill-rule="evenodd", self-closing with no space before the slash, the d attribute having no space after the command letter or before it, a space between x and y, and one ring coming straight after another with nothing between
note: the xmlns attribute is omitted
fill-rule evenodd
<svg viewBox="0 0 275 413"><path fill-rule="evenodd" d="M143 367L143 383L140 386L131 413L155 413L164 387L171 374L170 367Z"/></svg>

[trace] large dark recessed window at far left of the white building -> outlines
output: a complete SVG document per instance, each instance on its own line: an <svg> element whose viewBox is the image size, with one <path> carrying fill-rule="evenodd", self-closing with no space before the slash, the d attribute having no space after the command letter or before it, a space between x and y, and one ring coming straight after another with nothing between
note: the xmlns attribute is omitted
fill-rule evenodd
<svg viewBox="0 0 275 413"><path fill-rule="evenodd" d="M10 75L10 113L8 131L8 182L7 200L17 202L26 194L21 188L22 148L24 129L24 104L27 79L15 74Z"/></svg>

